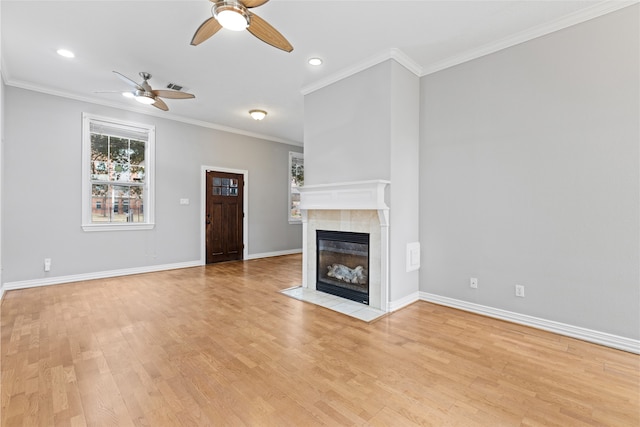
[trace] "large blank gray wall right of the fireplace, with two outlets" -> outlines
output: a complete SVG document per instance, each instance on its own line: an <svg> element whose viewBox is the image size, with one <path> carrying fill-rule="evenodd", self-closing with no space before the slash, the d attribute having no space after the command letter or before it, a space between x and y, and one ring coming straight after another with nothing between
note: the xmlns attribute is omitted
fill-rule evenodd
<svg viewBox="0 0 640 427"><path fill-rule="evenodd" d="M638 12L422 78L421 291L640 338Z"/></svg>

